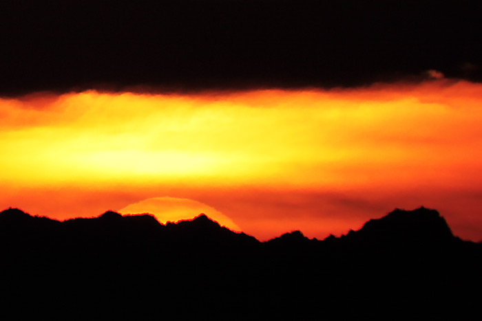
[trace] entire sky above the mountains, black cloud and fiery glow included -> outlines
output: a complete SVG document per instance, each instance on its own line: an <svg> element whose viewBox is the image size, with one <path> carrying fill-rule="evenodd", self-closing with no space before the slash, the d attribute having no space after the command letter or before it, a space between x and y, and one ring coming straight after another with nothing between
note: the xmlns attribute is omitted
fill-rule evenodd
<svg viewBox="0 0 482 321"><path fill-rule="evenodd" d="M482 239L476 1L2 4L0 208Z"/></svg>

